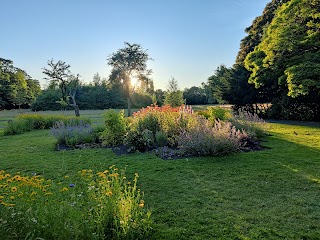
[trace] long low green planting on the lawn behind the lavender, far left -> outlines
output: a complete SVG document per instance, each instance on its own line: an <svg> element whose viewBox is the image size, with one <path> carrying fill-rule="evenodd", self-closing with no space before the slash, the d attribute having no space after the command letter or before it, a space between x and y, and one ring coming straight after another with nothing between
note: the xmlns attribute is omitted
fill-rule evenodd
<svg viewBox="0 0 320 240"><path fill-rule="evenodd" d="M90 123L90 119L79 118L73 116L62 115L41 115L41 114L21 114L14 120L9 121L8 125L4 129L4 135L15 135L28 132L35 129L49 129L53 127L57 121L63 121L64 123L70 120L75 123L84 122Z"/></svg>

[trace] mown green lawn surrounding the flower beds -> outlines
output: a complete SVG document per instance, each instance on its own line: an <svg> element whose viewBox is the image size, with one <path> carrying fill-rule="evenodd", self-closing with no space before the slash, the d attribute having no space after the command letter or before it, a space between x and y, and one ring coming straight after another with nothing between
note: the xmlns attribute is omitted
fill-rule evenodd
<svg viewBox="0 0 320 240"><path fill-rule="evenodd" d="M1 113L4 126L12 115ZM99 123L101 113L87 115ZM0 136L0 169L53 179L113 164L128 176L138 172L153 212L151 239L320 239L320 125L270 126L266 150L180 160L108 149L56 152L48 130Z"/></svg>

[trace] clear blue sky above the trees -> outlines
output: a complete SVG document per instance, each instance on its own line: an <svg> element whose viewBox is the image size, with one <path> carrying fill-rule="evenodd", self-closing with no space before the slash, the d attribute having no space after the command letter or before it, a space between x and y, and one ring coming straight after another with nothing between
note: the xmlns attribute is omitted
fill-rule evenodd
<svg viewBox="0 0 320 240"><path fill-rule="evenodd" d="M200 86L220 64L232 66L244 29L270 0L1 1L0 57L41 85L49 59L63 60L85 82L108 77L107 58L124 42L141 44L154 61L156 88L174 77Z"/></svg>

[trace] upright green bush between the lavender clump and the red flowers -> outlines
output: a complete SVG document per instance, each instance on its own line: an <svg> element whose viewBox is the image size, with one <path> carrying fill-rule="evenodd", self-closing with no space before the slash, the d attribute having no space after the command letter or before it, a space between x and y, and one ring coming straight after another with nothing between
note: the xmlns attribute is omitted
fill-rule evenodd
<svg viewBox="0 0 320 240"><path fill-rule="evenodd" d="M106 146L122 144L127 132L124 111L107 110L104 114L104 119L106 128L100 136L102 143Z"/></svg>

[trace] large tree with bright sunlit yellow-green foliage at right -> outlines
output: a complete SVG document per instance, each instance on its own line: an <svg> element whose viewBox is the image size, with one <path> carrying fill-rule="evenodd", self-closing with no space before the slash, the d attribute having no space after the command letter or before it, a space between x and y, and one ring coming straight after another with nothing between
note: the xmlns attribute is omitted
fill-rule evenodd
<svg viewBox="0 0 320 240"><path fill-rule="evenodd" d="M320 90L320 3L291 0L283 4L264 38L245 59L256 87L275 82L290 97Z"/></svg>

